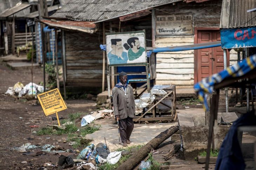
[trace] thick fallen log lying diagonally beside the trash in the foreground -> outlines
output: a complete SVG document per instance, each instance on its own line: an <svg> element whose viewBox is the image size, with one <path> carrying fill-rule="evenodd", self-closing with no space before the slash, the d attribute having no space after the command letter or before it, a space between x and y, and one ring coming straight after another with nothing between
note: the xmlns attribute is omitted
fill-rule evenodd
<svg viewBox="0 0 256 170"><path fill-rule="evenodd" d="M155 149L163 141L168 139L172 134L176 133L178 130L178 126L171 126L166 131L161 132L154 139L152 139L145 146L143 146L140 150L138 150L131 157L129 157L128 160L122 163L120 167L118 167L116 170L132 170L133 167L135 167L144 159L144 157L148 156L148 153L150 153L152 148Z"/></svg>

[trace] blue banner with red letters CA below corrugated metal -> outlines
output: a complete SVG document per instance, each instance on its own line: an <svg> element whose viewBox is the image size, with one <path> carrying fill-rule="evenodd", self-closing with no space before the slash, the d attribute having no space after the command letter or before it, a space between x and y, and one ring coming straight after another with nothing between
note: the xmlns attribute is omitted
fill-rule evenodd
<svg viewBox="0 0 256 170"><path fill-rule="evenodd" d="M221 29L222 49L256 47L256 27Z"/></svg>

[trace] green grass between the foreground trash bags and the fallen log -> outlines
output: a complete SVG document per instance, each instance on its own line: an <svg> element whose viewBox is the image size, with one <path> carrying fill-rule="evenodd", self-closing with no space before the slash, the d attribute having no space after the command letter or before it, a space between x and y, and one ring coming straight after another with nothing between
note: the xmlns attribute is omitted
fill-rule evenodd
<svg viewBox="0 0 256 170"><path fill-rule="evenodd" d="M131 152L131 150L133 150L133 148L136 148L136 151L139 150L143 145L137 145L137 146L129 146L129 147L125 147L125 148L118 148L116 149L115 151L123 151L123 150L128 150ZM113 169L116 169L118 168L123 162L125 162L126 160L128 160L128 158L130 157L131 155L124 155L124 156L121 156L120 160L116 163L116 164L109 164L109 163L106 163L106 164L102 164L101 166L99 166L99 169L100 170L113 170Z"/></svg>

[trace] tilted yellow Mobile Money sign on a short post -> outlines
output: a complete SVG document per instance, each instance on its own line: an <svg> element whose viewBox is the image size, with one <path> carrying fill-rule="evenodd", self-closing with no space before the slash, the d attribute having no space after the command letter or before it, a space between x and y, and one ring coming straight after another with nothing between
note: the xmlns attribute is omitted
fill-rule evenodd
<svg viewBox="0 0 256 170"><path fill-rule="evenodd" d="M67 106L60 94L58 88L46 91L45 93L41 93L37 95L43 112L45 116L49 116L50 114L56 114L58 124L60 126L58 112L62 110L66 110Z"/></svg>

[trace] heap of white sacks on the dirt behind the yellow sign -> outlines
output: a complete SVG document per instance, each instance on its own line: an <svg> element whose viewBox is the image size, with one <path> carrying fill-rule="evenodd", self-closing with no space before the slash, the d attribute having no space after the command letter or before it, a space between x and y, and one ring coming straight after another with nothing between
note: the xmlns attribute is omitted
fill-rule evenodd
<svg viewBox="0 0 256 170"><path fill-rule="evenodd" d="M22 97L25 95L38 95L40 93L43 93L43 86L32 82L24 86L21 82L17 82L13 87L7 89L5 95Z"/></svg>

